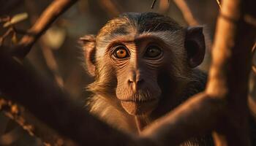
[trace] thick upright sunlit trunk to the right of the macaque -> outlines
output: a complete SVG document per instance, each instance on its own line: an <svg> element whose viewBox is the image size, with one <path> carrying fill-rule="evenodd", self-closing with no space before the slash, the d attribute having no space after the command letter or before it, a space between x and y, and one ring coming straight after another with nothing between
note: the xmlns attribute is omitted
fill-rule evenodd
<svg viewBox="0 0 256 146"><path fill-rule="evenodd" d="M244 22L248 1L225 0L217 22L206 93L227 100L226 117L219 121L217 145L250 145L247 92L255 27ZM246 5L247 4L247 5Z"/></svg>

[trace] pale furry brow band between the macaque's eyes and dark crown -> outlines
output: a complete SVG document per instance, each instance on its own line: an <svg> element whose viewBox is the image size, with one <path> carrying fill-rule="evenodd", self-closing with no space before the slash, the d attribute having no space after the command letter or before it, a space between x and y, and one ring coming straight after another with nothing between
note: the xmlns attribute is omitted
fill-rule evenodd
<svg viewBox="0 0 256 146"><path fill-rule="evenodd" d="M103 56L107 54L110 47L121 43L134 43L151 39L152 41L161 42L162 46L167 46L174 52L181 52L184 48L185 31L153 31L153 32L133 32L131 34L112 34L105 39L97 41L97 55ZM151 42L152 42L151 41ZM139 50L140 48L135 47Z"/></svg>

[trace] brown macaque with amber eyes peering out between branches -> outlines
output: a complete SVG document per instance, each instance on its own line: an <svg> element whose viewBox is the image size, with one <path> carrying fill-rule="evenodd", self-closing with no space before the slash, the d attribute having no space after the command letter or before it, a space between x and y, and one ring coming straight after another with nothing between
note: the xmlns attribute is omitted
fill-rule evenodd
<svg viewBox="0 0 256 146"><path fill-rule="evenodd" d="M83 42L94 77L89 111L122 131L140 134L148 124L203 91L206 74L196 69L206 45L203 28L182 27L153 12L125 13ZM213 145L211 135L181 145Z"/></svg>

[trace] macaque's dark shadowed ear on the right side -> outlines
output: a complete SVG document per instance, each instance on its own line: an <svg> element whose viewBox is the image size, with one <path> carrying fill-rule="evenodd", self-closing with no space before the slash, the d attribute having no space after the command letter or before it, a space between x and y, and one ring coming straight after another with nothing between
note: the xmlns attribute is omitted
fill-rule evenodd
<svg viewBox="0 0 256 146"><path fill-rule="evenodd" d="M185 48L187 50L189 66L192 68L199 66L203 62L206 53L206 42L202 26L187 28Z"/></svg>

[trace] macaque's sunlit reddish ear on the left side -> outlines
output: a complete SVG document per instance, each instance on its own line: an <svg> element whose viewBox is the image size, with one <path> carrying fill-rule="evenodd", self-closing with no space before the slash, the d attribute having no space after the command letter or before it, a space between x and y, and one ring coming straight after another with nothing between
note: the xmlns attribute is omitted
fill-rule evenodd
<svg viewBox="0 0 256 146"><path fill-rule="evenodd" d="M86 67L91 75L91 77L95 76L95 42L96 37L92 34L86 35L84 37L80 37L80 44L83 46L83 55L86 61Z"/></svg>

